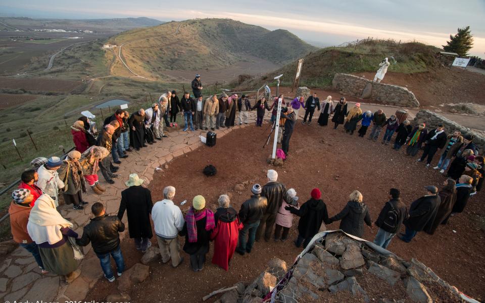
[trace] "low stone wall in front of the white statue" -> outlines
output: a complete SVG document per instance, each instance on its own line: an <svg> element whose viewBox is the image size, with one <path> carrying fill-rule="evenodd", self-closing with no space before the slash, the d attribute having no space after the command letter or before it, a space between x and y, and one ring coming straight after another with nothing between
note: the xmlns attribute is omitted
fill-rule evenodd
<svg viewBox="0 0 485 303"><path fill-rule="evenodd" d="M376 83L362 77L336 73L333 76L332 86L342 94L349 94L357 98L370 98L386 105L419 107L414 93L406 87L398 85Z"/></svg>

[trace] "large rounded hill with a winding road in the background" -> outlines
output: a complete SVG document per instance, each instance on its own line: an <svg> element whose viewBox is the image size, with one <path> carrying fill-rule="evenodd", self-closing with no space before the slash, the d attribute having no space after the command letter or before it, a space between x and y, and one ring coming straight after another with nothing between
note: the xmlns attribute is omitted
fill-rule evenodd
<svg viewBox="0 0 485 303"><path fill-rule="evenodd" d="M156 77L163 70L224 68L254 56L282 65L316 47L286 30L270 31L230 19L169 22L120 33L110 43L121 45L126 64L137 74ZM121 62L112 73L126 73Z"/></svg>

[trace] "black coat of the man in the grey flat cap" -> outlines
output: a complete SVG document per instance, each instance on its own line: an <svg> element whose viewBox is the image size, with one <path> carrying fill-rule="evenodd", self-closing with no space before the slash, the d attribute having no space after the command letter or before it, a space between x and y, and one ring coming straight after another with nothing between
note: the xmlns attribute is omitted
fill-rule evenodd
<svg viewBox="0 0 485 303"><path fill-rule="evenodd" d="M409 208L409 217L404 225L414 231L422 231L429 228L436 218L441 204L439 195L422 196L415 200Z"/></svg>

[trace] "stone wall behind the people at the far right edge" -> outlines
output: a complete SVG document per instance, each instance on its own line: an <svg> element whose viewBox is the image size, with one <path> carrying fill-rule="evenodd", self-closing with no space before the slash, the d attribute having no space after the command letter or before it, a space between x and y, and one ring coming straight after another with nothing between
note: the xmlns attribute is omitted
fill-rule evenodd
<svg viewBox="0 0 485 303"><path fill-rule="evenodd" d="M416 113L416 117L413 120L414 125L419 123L425 123L427 129L436 128L438 124L443 123L445 131L448 134L451 134L455 129L460 130L462 134L472 134L475 136L473 142L476 144L476 146L478 146L478 148L480 148L480 155L482 155L485 150L485 137L483 135L469 130L448 118L438 115L437 113L428 110L420 110Z"/></svg>

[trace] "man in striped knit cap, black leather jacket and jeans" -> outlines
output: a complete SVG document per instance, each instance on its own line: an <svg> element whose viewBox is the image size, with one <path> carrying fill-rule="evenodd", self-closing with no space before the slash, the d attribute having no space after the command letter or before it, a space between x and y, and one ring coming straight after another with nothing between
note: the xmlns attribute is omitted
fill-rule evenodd
<svg viewBox="0 0 485 303"><path fill-rule="evenodd" d="M244 227L239 231L239 245L236 251L241 256L244 256L245 252L248 252L248 254L251 252L256 237L256 230L268 206L268 200L261 195L261 190L261 185L254 184L253 188L251 188L253 195L241 205L239 210L239 220ZM249 233L248 239L246 239L247 233Z"/></svg>

